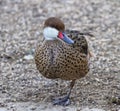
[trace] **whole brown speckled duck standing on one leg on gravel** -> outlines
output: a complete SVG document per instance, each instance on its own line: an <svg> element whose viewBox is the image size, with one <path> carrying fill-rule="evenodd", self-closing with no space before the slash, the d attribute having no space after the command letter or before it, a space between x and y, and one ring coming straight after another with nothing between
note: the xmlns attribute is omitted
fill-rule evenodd
<svg viewBox="0 0 120 111"><path fill-rule="evenodd" d="M75 81L89 72L91 53L85 35L90 34L65 30L64 22L57 17L44 22L44 40L35 50L36 68L48 79L71 81L66 96L54 99L53 105L69 105Z"/></svg>

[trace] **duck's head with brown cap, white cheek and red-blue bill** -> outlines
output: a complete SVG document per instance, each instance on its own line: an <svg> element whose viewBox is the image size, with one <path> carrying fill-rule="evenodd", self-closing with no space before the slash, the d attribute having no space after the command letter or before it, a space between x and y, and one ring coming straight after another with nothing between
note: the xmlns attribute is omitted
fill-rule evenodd
<svg viewBox="0 0 120 111"><path fill-rule="evenodd" d="M74 41L64 33L64 30L65 25L59 18L50 17L44 23L43 35L46 40L61 39L68 44L73 44Z"/></svg>

